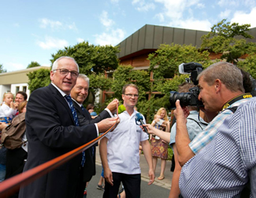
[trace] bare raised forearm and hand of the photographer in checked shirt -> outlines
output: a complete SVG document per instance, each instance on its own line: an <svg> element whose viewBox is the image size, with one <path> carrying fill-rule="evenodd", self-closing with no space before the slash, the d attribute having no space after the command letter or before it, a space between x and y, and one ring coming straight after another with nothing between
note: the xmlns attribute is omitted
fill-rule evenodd
<svg viewBox="0 0 256 198"><path fill-rule="evenodd" d="M180 106L180 100L176 101L176 110L174 110L174 115L176 117L176 148L179 154L178 159L180 166L182 167L191 157L195 156L189 147L190 138L187 133L187 116L189 111L187 108L183 109Z"/></svg>

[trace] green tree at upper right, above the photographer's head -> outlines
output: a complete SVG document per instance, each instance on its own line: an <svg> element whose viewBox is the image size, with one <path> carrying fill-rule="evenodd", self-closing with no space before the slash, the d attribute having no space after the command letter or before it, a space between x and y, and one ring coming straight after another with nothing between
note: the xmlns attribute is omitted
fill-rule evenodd
<svg viewBox="0 0 256 198"><path fill-rule="evenodd" d="M247 42L253 38L249 33L250 24L239 25L227 22L225 19L213 25L207 35L202 36L201 49L222 53L221 59L237 64L239 57L255 51L255 43Z"/></svg>

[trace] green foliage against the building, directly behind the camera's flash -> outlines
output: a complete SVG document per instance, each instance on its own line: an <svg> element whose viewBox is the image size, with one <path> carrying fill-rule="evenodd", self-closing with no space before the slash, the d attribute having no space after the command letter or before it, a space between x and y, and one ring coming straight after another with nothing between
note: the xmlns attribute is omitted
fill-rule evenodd
<svg viewBox="0 0 256 198"><path fill-rule="evenodd" d="M148 110L148 120L151 121L154 116L154 109L165 107L170 108L170 91L176 91L181 83L189 75L179 74L179 65L188 62L197 62L204 68L211 64L210 53L208 51L198 52L196 46L180 46L162 44L154 53L150 53L149 70L154 72L154 82L151 83L150 92L161 92L161 94L152 94L149 101L145 101L144 108ZM153 107L153 108L152 108Z"/></svg>

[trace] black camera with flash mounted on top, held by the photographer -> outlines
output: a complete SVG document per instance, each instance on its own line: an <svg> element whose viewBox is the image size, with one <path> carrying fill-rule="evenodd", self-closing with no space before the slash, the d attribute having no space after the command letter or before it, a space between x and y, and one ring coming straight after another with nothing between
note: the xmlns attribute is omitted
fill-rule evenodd
<svg viewBox="0 0 256 198"><path fill-rule="evenodd" d="M202 107L202 101L198 101L199 88L198 88L198 74L202 72L202 64L198 63L187 63L179 65L180 74L190 74L190 80L194 83L195 87L189 89L188 93L178 93L176 91L170 92L169 102L171 108L176 108L176 100L180 100L180 106L197 106Z"/></svg>

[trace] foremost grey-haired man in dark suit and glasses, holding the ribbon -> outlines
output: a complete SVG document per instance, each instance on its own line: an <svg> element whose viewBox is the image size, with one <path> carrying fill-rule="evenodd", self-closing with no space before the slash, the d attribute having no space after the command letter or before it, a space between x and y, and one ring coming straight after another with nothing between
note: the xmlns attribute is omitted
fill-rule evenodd
<svg viewBox="0 0 256 198"><path fill-rule="evenodd" d="M76 127L78 124L72 116L75 111L69 98L65 97L70 97L78 72L78 65L73 58L60 57L54 61L50 71L50 85L35 90L30 96L26 113L28 160L24 171L84 145L97 138L96 130L106 131L118 122L118 119L111 118L97 124ZM70 159L29 185L23 186L19 197L75 197L81 156Z"/></svg>

